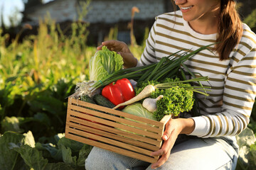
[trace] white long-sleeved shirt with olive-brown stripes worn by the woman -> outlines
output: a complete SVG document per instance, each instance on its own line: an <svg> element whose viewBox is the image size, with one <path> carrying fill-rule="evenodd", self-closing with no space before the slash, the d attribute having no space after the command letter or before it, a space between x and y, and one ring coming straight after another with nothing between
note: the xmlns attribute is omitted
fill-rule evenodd
<svg viewBox="0 0 256 170"><path fill-rule="evenodd" d="M209 77L202 84L211 86L209 96L196 94L201 116L193 117L196 127L190 135L235 136L249 123L256 94L256 35L246 24L242 26L242 38L228 60L220 61L217 52L203 50L185 62L192 72ZM217 33L196 33L181 11L164 13L156 17L138 66L159 62L178 50L197 50L216 38Z"/></svg>

